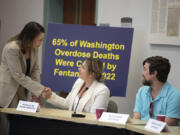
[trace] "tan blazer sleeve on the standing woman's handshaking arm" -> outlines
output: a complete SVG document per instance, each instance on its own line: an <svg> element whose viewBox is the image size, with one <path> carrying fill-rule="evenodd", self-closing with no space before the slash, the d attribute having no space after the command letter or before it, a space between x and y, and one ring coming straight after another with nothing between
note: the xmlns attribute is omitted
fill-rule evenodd
<svg viewBox="0 0 180 135"><path fill-rule="evenodd" d="M12 77L24 88L28 89L36 96L39 96L44 89L44 86L37 81L33 81L22 72L20 63L20 57L22 56L20 55L20 48L18 45L9 45L5 51L5 59Z"/></svg>

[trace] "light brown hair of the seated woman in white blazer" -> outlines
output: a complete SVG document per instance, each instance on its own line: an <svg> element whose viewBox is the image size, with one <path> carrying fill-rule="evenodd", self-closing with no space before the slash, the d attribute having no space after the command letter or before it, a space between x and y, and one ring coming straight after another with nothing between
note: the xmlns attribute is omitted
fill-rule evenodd
<svg viewBox="0 0 180 135"><path fill-rule="evenodd" d="M103 63L94 58L87 58L86 59L86 66L89 73L93 73L95 79L98 82L104 82L104 76L103 76Z"/></svg>

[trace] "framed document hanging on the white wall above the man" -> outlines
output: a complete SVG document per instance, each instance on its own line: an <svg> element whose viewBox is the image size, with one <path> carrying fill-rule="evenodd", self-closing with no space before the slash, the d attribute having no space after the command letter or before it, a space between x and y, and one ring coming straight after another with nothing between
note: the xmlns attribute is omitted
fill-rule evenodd
<svg viewBox="0 0 180 135"><path fill-rule="evenodd" d="M150 44L180 45L180 0L151 0Z"/></svg>

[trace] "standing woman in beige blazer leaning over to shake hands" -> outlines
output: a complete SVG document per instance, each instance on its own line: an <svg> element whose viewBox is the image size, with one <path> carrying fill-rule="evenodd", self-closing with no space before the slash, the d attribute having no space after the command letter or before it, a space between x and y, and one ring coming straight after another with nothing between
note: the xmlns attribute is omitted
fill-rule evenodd
<svg viewBox="0 0 180 135"><path fill-rule="evenodd" d="M19 100L31 100L31 93L50 97L51 89L40 84L38 65L44 32L40 24L29 22L5 45L0 65L0 107L16 107Z"/></svg>

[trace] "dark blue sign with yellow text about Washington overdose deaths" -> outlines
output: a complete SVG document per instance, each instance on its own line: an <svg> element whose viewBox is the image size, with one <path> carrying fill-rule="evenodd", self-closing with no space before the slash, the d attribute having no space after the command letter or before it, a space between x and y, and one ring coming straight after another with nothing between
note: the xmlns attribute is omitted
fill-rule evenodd
<svg viewBox="0 0 180 135"><path fill-rule="evenodd" d="M105 84L112 96L126 96L133 28L49 24L42 84L71 91L78 68L87 58L104 64Z"/></svg>

